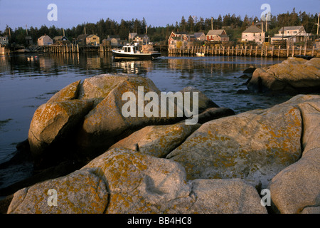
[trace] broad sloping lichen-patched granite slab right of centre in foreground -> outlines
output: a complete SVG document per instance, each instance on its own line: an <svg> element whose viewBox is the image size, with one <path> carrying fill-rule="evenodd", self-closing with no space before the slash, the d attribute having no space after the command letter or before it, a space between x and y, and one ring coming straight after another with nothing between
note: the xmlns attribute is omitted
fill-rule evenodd
<svg viewBox="0 0 320 228"><path fill-rule="evenodd" d="M167 155L188 180L242 178L262 187L301 157L302 118L290 102L207 122Z"/></svg>

